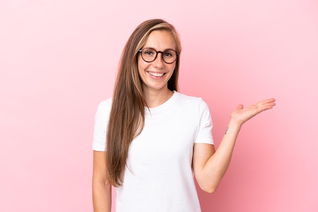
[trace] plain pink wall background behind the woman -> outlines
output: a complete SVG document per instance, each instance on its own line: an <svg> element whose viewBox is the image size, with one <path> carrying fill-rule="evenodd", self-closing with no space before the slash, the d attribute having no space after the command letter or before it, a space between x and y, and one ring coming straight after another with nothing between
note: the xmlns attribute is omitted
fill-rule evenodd
<svg viewBox="0 0 318 212"><path fill-rule="evenodd" d="M202 211L318 211L314 0L1 0L0 211L92 211L94 114L150 18L178 29L180 91L208 103L216 146L237 104L277 99Z"/></svg>

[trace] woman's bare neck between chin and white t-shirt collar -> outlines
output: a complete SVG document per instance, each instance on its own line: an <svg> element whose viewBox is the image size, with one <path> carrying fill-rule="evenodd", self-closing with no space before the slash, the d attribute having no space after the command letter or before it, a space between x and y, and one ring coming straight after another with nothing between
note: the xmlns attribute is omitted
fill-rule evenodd
<svg viewBox="0 0 318 212"><path fill-rule="evenodd" d="M165 103L172 95L171 90L144 90L145 100L149 108L155 108Z"/></svg>

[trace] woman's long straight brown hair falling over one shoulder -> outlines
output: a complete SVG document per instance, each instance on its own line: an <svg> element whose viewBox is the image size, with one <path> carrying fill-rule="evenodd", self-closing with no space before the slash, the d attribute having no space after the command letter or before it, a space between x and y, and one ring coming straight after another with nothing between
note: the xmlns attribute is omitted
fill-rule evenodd
<svg viewBox="0 0 318 212"><path fill-rule="evenodd" d="M170 32L176 43L176 51L181 52L180 39L174 26L162 19L141 23L122 51L106 136L107 178L115 187L122 185L129 146L144 126L144 107L147 104L138 74L137 55L154 30ZM168 89L172 91L178 91L179 59L180 57L177 58L175 70L168 81Z"/></svg>

